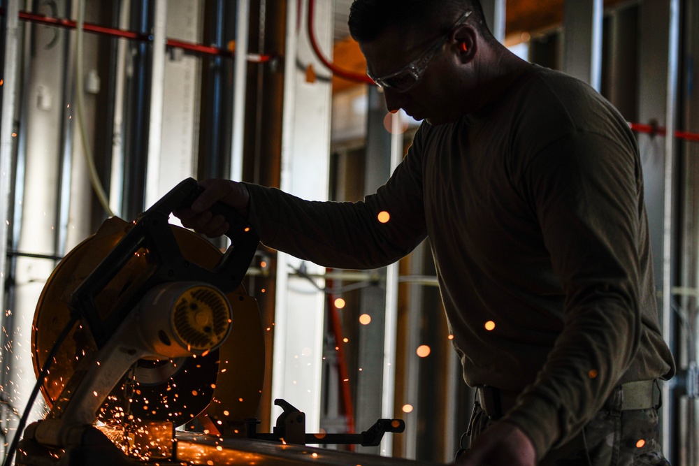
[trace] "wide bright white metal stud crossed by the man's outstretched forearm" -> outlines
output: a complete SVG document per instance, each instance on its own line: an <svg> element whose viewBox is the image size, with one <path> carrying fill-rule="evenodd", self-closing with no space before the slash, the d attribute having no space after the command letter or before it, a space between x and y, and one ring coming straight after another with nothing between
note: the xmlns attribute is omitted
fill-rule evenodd
<svg viewBox="0 0 699 466"><path fill-rule="evenodd" d="M312 64L318 75L328 73L308 43L306 15L298 15L298 3L287 2L280 188L301 198L324 201L329 183L331 83L308 82L305 70L297 67L299 62ZM314 27L324 51L332 50L332 13L331 2L316 3ZM301 18L300 27L297 18ZM290 266L300 267L301 261L282 253L277 259L272 396L286 398L302 409L306 429L317 432L326 300L305 279L289 277ZM312 274L324 271L312 263L303 265ZM276 418L280 410L274 411Z"/></svg>

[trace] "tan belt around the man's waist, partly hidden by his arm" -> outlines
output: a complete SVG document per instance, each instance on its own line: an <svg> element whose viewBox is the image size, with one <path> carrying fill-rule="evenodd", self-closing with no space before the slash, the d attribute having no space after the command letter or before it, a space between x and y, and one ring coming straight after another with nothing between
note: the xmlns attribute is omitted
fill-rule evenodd
<svg viewBox="0 0 699 466"><path fill-rule="evenodd" d="M641 380L621 384L621 411L631 411L633 409L649 409L656 407L654 387L656 381ZM498 388L492 386L479 386L476 388L480 405L489 418L497 419L504 416L514 407L516 396L503 393ZM612 404L618 405L616 400L617 391L612 392L610 398L605 402L605 407L609 409ZM616 403L615 403L616 401Z"/></svg>

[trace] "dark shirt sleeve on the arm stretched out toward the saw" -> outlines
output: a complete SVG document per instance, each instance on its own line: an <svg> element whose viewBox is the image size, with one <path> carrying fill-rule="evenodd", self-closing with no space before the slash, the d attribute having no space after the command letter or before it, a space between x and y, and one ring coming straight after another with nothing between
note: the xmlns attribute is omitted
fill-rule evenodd
<svg viewBox="0 0 699 466"><path fill-rule="evenodd" d="M426 238L417 145L384 186L355 203L305 201L246 184L250 223L265 245L326 267L368 269L393 263Z"/></svg>

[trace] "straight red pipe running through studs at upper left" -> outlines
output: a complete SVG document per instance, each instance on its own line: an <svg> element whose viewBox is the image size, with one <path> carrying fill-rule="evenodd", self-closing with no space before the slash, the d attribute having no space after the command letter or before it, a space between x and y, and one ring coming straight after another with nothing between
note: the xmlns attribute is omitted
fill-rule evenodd
<svg viewBox="0 0 699 466"><path fill-rule="evenodd" d="M4 11L2 13L4 14ZM29 13L28 11L20 11L19 17L20 20L36 22L38 24L46 24L48 26L64 27L66 29L75 29L77 27L76 22L73 20L66 20L63 18L55 18L45 15L37 15L36 13ZM103 36L127 38L134 41L150 42L153 40L153 36L151 36L150 34L140 34L138 32L126 31L124 29L104 27L100 26L99 24L92 24L89 22L85 22L82 24L82 30L92 32L94 34L102 34ZM191 42L178 41L176 39L167 39L166 46L188 50L189 52L196 52L208 55L220 55L222 57L233 57L235 55L235 52L231 52L231 50L225 48L211 47L210 45L201 45ZM252 61L255 63L262 63L264 61L269 61L270 59L270 55L247 55L247 61Z"/></svg>

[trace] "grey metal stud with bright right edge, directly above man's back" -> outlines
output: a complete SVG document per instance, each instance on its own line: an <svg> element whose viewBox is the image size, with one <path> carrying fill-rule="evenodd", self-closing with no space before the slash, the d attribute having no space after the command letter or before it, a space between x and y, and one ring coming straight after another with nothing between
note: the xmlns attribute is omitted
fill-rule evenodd
<svg viewBox="0 0 699 466"><path fill-rule="evenodd" d="M603 0L565 0L563 71L596 91L602 80Z"/></svg>

